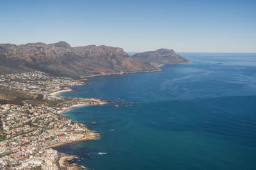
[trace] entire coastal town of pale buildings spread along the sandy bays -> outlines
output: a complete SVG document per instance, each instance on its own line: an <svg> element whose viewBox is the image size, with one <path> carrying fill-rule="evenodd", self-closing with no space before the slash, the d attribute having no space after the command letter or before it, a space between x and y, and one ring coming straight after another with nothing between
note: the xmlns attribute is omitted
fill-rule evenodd
<svg viewBox="0 0 256 170"><path fill-rule="evenodd" d="M67 86L82 84L82 81L53 77L40 71L0 76L2 89L43 94L48 101L38 106L26 101L23 105L0 104L0 169L68 168L59 161L61 155L52 147L100 138L61 112L74 106L105 104L104 101L52 95Z"/></svg>

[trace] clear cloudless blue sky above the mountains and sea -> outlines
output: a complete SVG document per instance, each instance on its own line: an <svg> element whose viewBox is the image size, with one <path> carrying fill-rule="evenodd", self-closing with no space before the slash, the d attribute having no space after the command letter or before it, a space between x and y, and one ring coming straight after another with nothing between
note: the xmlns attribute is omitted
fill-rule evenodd
<svg viewBox="0 0 256 170"><path fill-rule="evenodd" d="M0 43L256 52L256 1L0 0Z"/></svg>

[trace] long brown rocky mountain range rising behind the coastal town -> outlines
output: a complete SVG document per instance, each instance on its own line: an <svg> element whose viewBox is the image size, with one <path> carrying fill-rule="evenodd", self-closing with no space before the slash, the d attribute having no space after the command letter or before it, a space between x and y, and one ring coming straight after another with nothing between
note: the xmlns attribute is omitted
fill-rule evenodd
<svg viewBox="0 0 256 170"><path fill-rule="evenodd" d="M65 41L53 44L29 43L26 45L0 44L1 73L20 73L39 70L57 76L81 78L97 74L156 71L154 67L134 59L122 48L110 46L71 47Z"/></svg>

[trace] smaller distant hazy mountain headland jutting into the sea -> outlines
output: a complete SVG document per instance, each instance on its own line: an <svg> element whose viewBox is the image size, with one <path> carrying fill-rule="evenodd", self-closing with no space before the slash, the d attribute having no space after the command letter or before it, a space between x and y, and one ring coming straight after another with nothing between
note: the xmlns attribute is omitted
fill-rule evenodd
<svg viewBox="0 0 256 170"><path fill-rule="evenodd" d="M184 59L184 57L175 53L173 50L163 48L153 52L136 53L132 55L132 57L156 67L170 64L186 64L191 62Z"/></svg>

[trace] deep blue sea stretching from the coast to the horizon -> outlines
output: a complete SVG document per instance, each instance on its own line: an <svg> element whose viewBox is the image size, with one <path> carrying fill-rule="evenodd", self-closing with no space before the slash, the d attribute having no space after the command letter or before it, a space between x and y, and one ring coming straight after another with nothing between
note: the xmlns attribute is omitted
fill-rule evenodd
<svg viewBox="0 0 256 170"><path fill-rule="evenodd" d="M195 64L97 76L76 87L79 92L61 94L122 106L65 112L102 138L57 150L97 170L256 169L256 53L180 55Z"/></svg>

